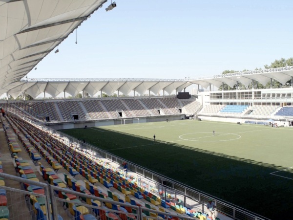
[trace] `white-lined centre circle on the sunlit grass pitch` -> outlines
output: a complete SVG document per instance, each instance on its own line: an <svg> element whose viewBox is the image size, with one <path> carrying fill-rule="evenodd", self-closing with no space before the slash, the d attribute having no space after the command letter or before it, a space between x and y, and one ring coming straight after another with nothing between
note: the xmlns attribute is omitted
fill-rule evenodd
<svg viewBox="0 0 293 220"><path fill-rule="evenodd" d="M241 136L239 134L223 132L216 132L215 135L212 132L196 132L182 134L179 138L187 141L218 142L237 140Z"/></svg>

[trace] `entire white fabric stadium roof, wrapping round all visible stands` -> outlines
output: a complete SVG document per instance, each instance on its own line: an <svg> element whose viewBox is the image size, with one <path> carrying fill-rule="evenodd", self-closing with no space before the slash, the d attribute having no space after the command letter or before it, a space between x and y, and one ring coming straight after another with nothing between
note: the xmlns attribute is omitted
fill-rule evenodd
<svg viewBox="0 0 293 220"><path fill-rule="evenodd" d="M293 77L293 67L265 69L217 75L202 79L25 79L47 54L53 51L107 0L2 0L0 1L0 95L16 98L26 92L33 98L41 93L56 97L62 92L75 96L85 91L110 95L119 90L128 94L147 90L182 91L191 84L204 88L233 87L236 82L248 86L252 80L266 85L271 78L285 84Z"/></svg>

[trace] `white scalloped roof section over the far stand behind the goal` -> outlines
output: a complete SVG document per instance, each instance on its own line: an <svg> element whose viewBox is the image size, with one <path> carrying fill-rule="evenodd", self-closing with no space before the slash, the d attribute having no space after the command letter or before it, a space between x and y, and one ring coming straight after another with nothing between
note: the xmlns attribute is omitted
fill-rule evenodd
<svg viewBox="0 0 293 220"><path fill-rule="evenodd" d="M11 83L6 89L13 98L25 91L35 99L44 92L53 98L64 92L75 97L82 91L94 96L99 91L111 95L117 90L123 94L135 90L142 95L147 90L157 94L164 89L171 94L174 90L182 91L191 84L178 79L25 79Z"/></svg>

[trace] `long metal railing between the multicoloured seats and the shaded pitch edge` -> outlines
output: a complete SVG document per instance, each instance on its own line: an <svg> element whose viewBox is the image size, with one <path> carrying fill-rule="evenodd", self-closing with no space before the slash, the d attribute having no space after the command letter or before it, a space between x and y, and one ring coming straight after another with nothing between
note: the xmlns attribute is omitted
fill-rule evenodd
<svg viewBox="0 0 293 220"><path fill-rule="evenodd" d="M83 148L84 155L102 156L121 166L123 162L127 162L129 170L136 173L138 176L142 176L138 179L139 186L145 188L147 191L157 196L160 196L160 191L169 191L171 192L170 194L172 195L174 203L178 201L177 198L181 197L183 198L180 199L182 205L187 206L186 201L189 200L188 205L196 206L196 209L198 211L205 213L207 212L205 204L208 203L209 198L214 198L215 203L217 205L217 211L224 213L225 215L230 216L235 220L268 220L265 217L259 216L255 213L252 213L227 201L215 198L200 190L194 189L176 180L170 179L167 176L162 176L158 173L147 170L146 168L143 168L137 164L133 164L130 161L126 161L125 159L120 158L116 155L105 152L95 146L85 144L82 141L79 141L76 138L68 136L62 132L58 132L48 127L43 127L43 129L46 129L47 131L50 131L52 134L56 134L60 138L63 138L63 141L67 146L71 146L71 144L73 144ZM165 199L168 199L167 194L165 194Z"/></svg>

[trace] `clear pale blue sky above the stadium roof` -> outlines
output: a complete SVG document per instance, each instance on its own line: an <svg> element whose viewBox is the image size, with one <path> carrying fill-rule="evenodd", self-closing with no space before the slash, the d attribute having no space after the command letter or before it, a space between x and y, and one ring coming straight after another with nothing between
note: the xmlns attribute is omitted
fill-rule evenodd
<svg viewBox="0 0 293 220"><path fill-rule="evenodd" d="M293 57L293 0L110 3L27 77L196 79Z"/></svg>

